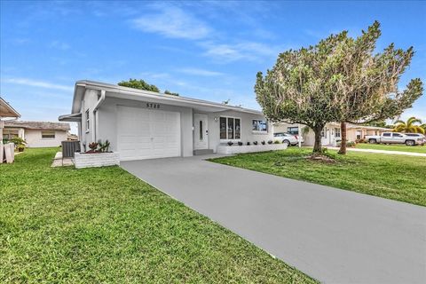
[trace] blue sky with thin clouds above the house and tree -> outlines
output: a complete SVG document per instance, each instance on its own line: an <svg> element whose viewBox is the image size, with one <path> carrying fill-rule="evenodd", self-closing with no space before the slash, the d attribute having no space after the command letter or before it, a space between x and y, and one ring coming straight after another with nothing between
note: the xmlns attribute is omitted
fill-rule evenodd
<svg viewBox="0 0 426 284"><path fill-rule="evenodd" d="M426 3L419 2L24 2L2 1L0 93L23 120L69 114L74 83L141 78L162 91L259 109L257 71L280 51L379 20L382 50L414 46L426 83ZM406 111L426 121L426 95Z"/></svg>

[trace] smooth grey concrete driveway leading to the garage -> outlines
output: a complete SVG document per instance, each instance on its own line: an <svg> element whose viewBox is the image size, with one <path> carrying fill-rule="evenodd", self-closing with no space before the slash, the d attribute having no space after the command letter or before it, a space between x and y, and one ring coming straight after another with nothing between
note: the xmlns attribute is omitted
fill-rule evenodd
<svg viewBox="0 0 426 284"><path fill-rule="evenodd" d="M327 283L425 283L426 208L203 161L122 168Z"/></svg>

